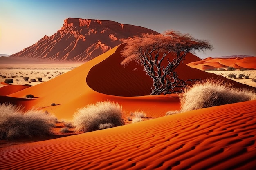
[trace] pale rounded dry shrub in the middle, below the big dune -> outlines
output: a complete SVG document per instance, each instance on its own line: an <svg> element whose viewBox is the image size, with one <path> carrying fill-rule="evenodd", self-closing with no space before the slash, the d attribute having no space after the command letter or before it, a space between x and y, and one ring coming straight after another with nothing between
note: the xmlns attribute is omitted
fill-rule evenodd
<svg viewBox="0 0 256 170"><path fill-rule="evenodd" d="M104 101L80 108L73 115L76 131L89 132L99 130L100 124L124 125L122 106L115 102Z"/></svg>

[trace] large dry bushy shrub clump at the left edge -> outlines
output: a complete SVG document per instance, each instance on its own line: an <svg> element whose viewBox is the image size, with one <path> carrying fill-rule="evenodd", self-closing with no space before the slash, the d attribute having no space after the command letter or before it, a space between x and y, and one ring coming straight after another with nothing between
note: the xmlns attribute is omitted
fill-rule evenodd
<svg viewBox="0 0 256 170"><path fill-rule="evenodd" d="M55 121L56 117L41 110L25 112L19 106L0 104L0 139L48 135Z"/></svg>

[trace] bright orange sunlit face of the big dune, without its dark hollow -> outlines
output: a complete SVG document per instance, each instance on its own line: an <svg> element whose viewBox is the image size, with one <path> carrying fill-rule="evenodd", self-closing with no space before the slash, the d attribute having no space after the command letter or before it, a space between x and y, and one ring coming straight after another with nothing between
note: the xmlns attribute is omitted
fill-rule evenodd
<svg viewBox="0 0 256 170"><path fill-rule="evenodd" d="M90 60L78 68L75 68L72 71L49 80L48 82L32 86L8 96L16 97L13 98L16 100L18 98L24 98L27 94L32 94L34 97L36 97L36 101L33 102L33 105L26 105L27 109L32 107L43 108L44 110L54 113L59 119L72 119L72 115L77 108L81 108L87 104L96 103L103 100L111 100L120 103L123 106L124 112L127 114L130 114L130 111L144 110L149 117L159 117L165 115L166 111L170 110L168 107L163 107L166 105L175 110L178 110L180 106L178 104L179 99L177 95L169 95L167 97L118 97L98 93L87 85L87 75L90 69L108 57L114 56L114 60L115 57L120 57L119 51L122 48L123 45L117 46L114 49L107 51L103 55ZM113 63L119 64L115 61L113 61ZM108 77L105 77L105 80L111 81L111 79L108 79ZM132 84L128 84L127 88L130 89L129 96L136 95L136 91L133 91L135 88L139 88L141 90L144 89L145 82L142 80L140 81L141 82L139 82L139 85L135 87L133 87ZM122 84L122 81L120 81L119 84ZM106 86L105 83L95 84L95 86L98 85ZM106 91L106 93L108 93L108 91ZM50 106L52 103L55 103L56 106ZM155 112L155 110L157 110L157 112Z"/></svg>

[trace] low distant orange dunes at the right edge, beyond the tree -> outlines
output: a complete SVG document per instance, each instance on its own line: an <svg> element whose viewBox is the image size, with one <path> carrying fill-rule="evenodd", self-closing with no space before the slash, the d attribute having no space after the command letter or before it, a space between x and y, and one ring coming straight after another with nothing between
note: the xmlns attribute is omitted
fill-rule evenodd
<svg viewBox="0 0 256 170"><path fill-rule="evenodd" d="M206 58L204 60L191 62L187 64L192 68L197 68L200 70L213 70L214 68L247 68L256 69L256 57L246 57L246 58Z"/></svg>

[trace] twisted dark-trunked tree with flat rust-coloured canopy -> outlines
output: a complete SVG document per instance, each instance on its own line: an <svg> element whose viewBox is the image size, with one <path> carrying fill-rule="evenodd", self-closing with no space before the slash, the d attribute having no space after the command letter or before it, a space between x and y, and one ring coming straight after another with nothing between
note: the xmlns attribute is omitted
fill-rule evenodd
<svg viewBox="0 0 256 170"><path fill-rule="evenodd" d="M124 40L126 46L121 51L123 66L139 61L144 71L153 79L151 95L171 94L187 88L187 81L178 78L175 68L185 59L187 53L213 49L208 40L198 40L179 31L166 31L164 34L136 36ZM172 61L166 57L174 55ZM169 55L168 55L169 56Z"/></svg>

